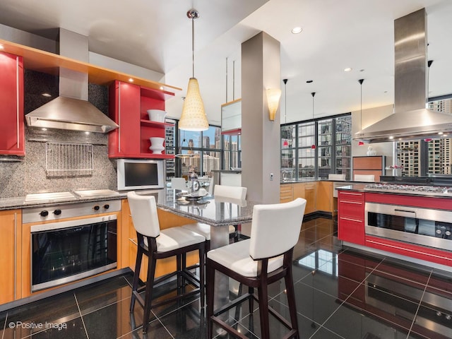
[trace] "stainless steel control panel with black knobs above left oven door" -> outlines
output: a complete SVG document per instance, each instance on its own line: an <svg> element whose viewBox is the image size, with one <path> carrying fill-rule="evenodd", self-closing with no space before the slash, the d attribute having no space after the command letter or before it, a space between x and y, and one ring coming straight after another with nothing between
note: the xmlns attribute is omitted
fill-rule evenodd
<svg viewBox="0 0 452 339"><path fill-rule="evenodd" d="M66 203L63 205L25 208L22 212L23 223L64 218L83 217L100 213L119 212L121 200L93 201L84 203Z"/></svg>

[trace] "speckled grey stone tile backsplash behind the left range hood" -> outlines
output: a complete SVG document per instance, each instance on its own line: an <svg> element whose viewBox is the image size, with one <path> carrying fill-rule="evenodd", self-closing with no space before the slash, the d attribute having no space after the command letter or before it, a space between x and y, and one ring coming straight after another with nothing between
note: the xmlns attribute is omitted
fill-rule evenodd
<svg viewBox="0 0 452 339"><path fill-rule="evenodd" d="M40 93L58 93L58 78L35 71L25 72L25 114L43 105ZM108 114L108 90L105 86L89 85L89 100ZM45 101L48 101L45 100ZM93 144L92 175L48 177L46 173L46 141ZM0 158L15 159L16 157ZM48 129L42 131L25 126L25 157L20 161L0 160L0 198L25 196L44 191L76 189L117 189L116 160L108 157L108 135L81 131Z"/></svg>

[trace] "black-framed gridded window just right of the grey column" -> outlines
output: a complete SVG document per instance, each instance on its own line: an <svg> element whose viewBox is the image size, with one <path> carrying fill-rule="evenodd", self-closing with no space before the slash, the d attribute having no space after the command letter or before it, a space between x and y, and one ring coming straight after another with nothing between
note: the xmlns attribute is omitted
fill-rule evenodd
<svg viewBox="0 0 452 339"><path fill-rule="evenodd" d="M327 179L351 176L350 114L281 126L281 178Z"/></svg>

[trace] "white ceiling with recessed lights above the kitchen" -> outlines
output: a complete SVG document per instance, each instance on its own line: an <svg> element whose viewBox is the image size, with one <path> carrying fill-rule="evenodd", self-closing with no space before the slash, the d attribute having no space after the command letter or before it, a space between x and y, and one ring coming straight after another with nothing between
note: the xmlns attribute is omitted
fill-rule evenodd
<svg viewBox="0 0 452 339"><path fill-rule="evenodd" d="M45 6L43 5L45 3ZM2 0L0 23L55 39L55 28L89 37L90 51L165 73L182 91L167 101L182 111L191 76L191 20L196 8L195 76L210 124L220 105L240 97L240 48L260 31L281 43L281 123L392 105L393 20L427 10L429 97L452 93L450 0ZM290 30L301 26L294 35ZM347 67L350 72L344 72ZM307 83L312 80L312 83ZM315 110L311 92L316 92ZM285 97L287 93L287 97ZM287 109L285 103L287 102Z"/></svg>

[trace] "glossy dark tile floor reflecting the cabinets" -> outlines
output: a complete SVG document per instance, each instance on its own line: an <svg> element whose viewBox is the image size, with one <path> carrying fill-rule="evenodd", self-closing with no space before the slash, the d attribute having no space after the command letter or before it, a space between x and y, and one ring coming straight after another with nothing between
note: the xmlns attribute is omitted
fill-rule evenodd
<svg viewBox="0 0 452 339"><path fill-rule="evenodd" d="M293 268L301 338L452 338L452 275L425 266L343 248L333 220L304 222ZM131 275L66 292L0 314L0 338L204 338L199 298L153 309L147 337L143 310L129 313ZM160 287L165 297L170 285ZM237 285L230 286L232 295ZM270 304L287 314L284 283ZM244 305L231 323L259 338L258 312ZM285 328L271 319L271 338ZM218 338L225 338L225 336Z"/></svg>

